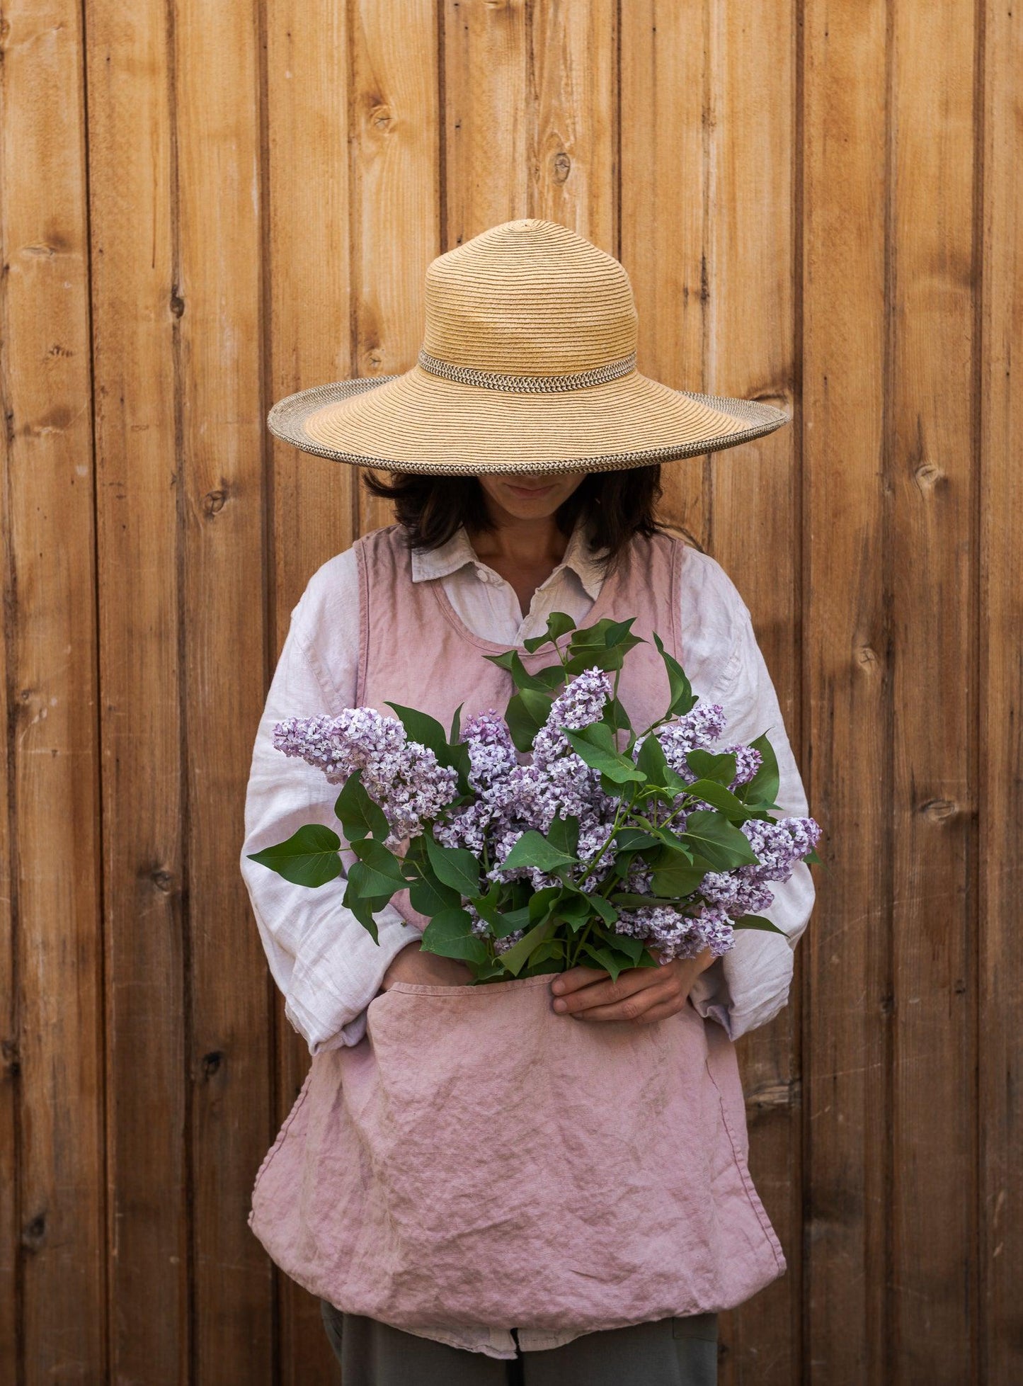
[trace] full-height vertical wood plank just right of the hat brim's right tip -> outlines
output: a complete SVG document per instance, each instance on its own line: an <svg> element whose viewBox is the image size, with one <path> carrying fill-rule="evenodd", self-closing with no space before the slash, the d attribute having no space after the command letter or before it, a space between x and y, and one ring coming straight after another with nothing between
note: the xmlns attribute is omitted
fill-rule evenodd
<svg viewBox="0 0 1023 1386"><path fill-rule="evenodd" d="M883 3L805 6L804 717L828 870L800 944L804 1346L808 1379L822 1382L889 1375L886 55Z"/></svg>

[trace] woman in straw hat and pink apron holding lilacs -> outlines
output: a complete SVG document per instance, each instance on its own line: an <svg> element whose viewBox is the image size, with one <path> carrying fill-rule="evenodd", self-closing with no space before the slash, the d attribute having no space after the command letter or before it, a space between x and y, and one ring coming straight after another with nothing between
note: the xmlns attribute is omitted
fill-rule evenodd
<svg viewBox="0 0 1023 1386"><path fill-rule="evenodd" d="M642 377L635 327L617 261L556 223L505 223L428 267L412 371L304 391L272 413L304 450L387 467L390 485L367 485L398 521L323 564L292 611L241 857L286 1015L313 1055L256 1175L250 1224L319 1295L345 1386L712 1382L718 1310L785 1270L744 1163L732 1042L785 1005L812 905L805 866L775 890L785 937L743 934L719 959L704 951L614 983L577 967L539 979L541 999L535 979L448 991L467 972L419 949L423 920L408 901L378 912L374 942L338 893L291 886L250 858L311 814L337 826L322 776L295 762L286 772L273 751L274 721L398 703L448 725L460 703L467 715L500 707L510 681L482 656L517 646L528 661L524 642L552 611L636 618L647 643L620 686L631 714L663 701L643 660L649 632L667 633L693 690L722 705L729 739L771 733L778 804L805 812L749 611L714 560L653 518L661 460L733 446L786 416ZM394 988L396 1010L383 999ZM445 1009L434 999L445 995L466 1005ZM506 1094L485 1120L480 999L518 1027L527 1084L524 1103ZM449 1021L459 1040L445 1049ZM582 1028L549 1030L570 1021ZM592 1069L621 1060L610 1100L599 1073L585 1102L589 1070L559 1077L554 1049L571 1055L585 1034L606 1037L588 1051ZM509 1146L542 1171L536 1204L516 1193L514 1159L499 1163ZM470 1209L474 1152L498 1163ZM618 1193L602 1202L593 1171L615 1171Z"/></svg>

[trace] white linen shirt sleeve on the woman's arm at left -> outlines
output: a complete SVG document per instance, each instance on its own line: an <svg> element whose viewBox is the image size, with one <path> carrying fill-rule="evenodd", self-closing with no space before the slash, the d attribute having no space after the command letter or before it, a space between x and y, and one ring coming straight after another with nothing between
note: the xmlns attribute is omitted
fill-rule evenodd
<svg viewBox="0 0 1023 1386"><path fill-rule="evenodd" d="M345 556L342 556L345 557ZM331 577L344 577L333 571ZM269 866L250 859L291 837L305 823L331 827L347 845L334 814L338 786L322 771L273 744L274 722L286 717L335 717L355 700L358 668L358 590L352 602L326 608L326 574L320 570L291 613L284 649L270 682L259 719L245 790L245 837L241 875L270 966L284 995L284 1013L317 1055L358 1044L366 1031L366 1006L380 990L395 954L419 938L392 905L376 918L380 944L374 944L355 915L341 904L345 881L295 886ZM353 586L353 585L352 585ZM344 595L344 593L342 593ZM345 638L345 621L351 638ZM329 678L317 631L330 631Z"/></svg>

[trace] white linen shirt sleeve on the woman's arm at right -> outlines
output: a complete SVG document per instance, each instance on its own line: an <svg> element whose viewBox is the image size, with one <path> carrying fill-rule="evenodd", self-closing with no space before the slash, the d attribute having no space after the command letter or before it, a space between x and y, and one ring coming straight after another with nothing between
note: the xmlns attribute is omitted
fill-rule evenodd
<svg viewBox="0 0 1023 1386"><path fill-rule="evenodd" d="M735 593L735 589L732 589ZM783 816L807 814L807 796L796 765L771 675L757 644L750 613L733 596L733 642L708 703L725 710L722 744L746 743L767 733L778 757L778 808ZM736 930L733 947L696 979L690 997L699 1015L717 1020L732 1040L767 1024L786 1005L794 949L814 908L814 880L798 862L789 880L772 884L773 902L761 911L783 930Z"/></svg>

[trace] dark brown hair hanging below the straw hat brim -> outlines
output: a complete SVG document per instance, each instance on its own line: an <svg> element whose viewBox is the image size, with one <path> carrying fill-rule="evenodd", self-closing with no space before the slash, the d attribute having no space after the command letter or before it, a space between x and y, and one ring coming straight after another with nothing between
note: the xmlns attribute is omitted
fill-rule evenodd
<svg viewBox="0 0 1023 1386"><path fill-rule="evenodd" d="M487 493L475 477L392 471L388 482L366 471L363 484L374 496L394 502L395 520L405 525L409 547L437 549L460 524L470 532L493 528ZM592 547L609 550L610 571L633 534L657 532L654 507L660 496L660 463L624 471L588 471L554 511L554 523L561 534L570 535L582 513Z"/></svg>

